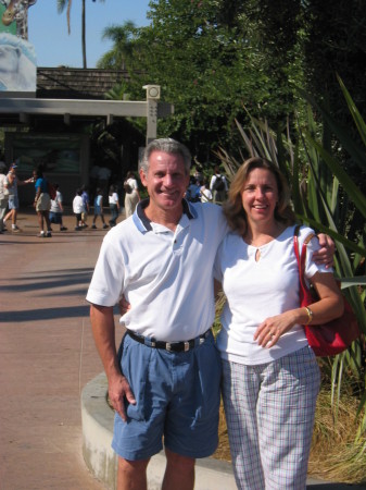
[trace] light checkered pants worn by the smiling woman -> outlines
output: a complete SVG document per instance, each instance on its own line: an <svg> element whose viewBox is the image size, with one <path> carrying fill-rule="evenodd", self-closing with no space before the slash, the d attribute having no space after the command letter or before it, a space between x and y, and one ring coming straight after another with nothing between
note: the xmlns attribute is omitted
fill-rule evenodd
<svg viewBox="0 0 366 490"><path fill-rule="evenodd" d="M239 489L305 489L319 384L310 347L256 366L223 362L224 407Z"/></svg>

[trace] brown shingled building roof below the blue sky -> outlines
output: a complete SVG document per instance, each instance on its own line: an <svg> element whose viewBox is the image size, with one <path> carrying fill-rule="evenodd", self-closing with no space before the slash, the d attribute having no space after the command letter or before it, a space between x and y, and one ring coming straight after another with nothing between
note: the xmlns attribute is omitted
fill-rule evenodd
<svg viewBox="0 0 366 490"><path fill-rule="evenodd" d="M127 71L37 68L37 93L41 99L104 99L104 94L122 81Z"/></svg>

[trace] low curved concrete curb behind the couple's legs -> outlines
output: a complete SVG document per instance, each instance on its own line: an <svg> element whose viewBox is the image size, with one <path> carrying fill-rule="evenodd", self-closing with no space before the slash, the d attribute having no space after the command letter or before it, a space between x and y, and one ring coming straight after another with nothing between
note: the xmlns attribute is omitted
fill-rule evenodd
<svg viewBox="0 0 366 490"><path fill-rule="evenodd" d="M117 456L111 448L114 414L106 402L104 372L89 381L81 392L83 456L92 475L108 489L116 489ZM148 466L149 490L161 489L165 455L155 454ZM194 490L236 490L231 465L205 457L195 463Z"/></svg>

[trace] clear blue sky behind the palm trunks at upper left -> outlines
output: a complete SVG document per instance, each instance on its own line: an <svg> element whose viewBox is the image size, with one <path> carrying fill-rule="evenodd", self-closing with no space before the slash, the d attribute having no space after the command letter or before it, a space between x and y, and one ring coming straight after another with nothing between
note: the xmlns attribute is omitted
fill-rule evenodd
<svg viewBox="0 0 366 490"><path fill-rule="evenodd" d="M56 3L56 0L37 0L28 10L28 40L35 47L37 66L83 68L81 0L73 0L70 35L66 9L59 14ZM86 0L87 68L96 68L112 47L110 41L102 40L104 27L126 21L144 26L148 10L149 0Z"/></svg>

